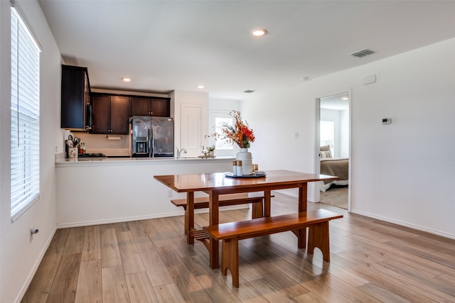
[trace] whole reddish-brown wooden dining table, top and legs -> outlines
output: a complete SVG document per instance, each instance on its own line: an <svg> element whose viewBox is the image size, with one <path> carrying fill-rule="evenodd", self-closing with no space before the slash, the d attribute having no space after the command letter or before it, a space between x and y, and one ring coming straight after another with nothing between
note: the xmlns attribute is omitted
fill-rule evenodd
<svg viewBox="0 0 455 303"><path fill-rule="evenodd" d="M289 170L267 170L264 177L230 177L226 172L213 172L189 175L156 175L154 179L176 192L186 192L186 236L187 243L193 244L195 235L202 232L194 228L195 192L205 192L208 194L208 224L212 226L219 223L218 211L221 194L263 192L264 216L270 216L272 190L298 188L299 206L296 211L301 212L306 211L308 182L337 180L338 177ZM298 238L300 239L299 241L306 242L306 235L301 235ZM210 267L218 268L218 241L208 238L206 243L205 246L209 252ZM299 243L299 247L305 247L305 243Z"/></svg>

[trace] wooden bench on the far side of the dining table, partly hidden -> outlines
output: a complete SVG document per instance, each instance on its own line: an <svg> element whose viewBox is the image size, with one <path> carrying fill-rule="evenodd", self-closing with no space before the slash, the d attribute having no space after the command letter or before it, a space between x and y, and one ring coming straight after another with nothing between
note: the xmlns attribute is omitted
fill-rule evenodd
<svg viewBox="0 0 455 303"><path fill-rule="evenodd" d="M271 197L274 197L272 195ZM223 194L220 195L219 206L232 206L240 204L252 204L252 219L264 216L264 195L262 192L250 192L248 194ZM181 206L186 211L186 199L172 199L175 206ZM208 196L195 197L194 209L208 209ZM185 220L185 231L187 231L187 222Z"/></svg>

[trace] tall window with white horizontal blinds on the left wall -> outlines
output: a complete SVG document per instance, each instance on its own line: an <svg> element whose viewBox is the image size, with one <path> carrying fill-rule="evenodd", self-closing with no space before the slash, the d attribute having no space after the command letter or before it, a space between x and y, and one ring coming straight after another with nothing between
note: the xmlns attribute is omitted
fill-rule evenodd
<svg viewBox="0 0 455 303"><path fill-rule="evenodd" d="M40 195L40 49L11 8L11 219Z"/></svg>

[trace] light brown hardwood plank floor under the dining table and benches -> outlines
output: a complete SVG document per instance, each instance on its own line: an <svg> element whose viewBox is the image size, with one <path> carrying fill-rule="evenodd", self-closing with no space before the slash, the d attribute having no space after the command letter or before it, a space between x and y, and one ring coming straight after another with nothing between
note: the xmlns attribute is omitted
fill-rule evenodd
<svg viewBox="0 0 455 303"><path fill-rule="evenodd" d="M272 215L296 207L272 199ZM330 223L331 263L291 232L242 240L238 289L202 243L186 244L183 216L59 229L22 302L455 302L454 240L309 203L319 207L344 215Z"/></svg>

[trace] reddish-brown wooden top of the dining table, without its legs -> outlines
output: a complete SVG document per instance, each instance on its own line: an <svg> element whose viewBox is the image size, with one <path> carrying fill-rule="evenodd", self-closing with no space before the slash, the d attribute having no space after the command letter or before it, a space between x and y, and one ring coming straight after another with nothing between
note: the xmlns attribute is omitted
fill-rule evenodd
<svg viewBox="0 0 455 303"><path fill-rule="evenodd" d="M338 177L315 175L290 170L267 170L266 177L233 178L226 177L225 172L191 175L156 175L154 178L176 192L204 192L213 189L241 189L257 187L284 186L301 182L338 180Z"/></svg>

